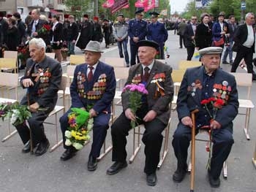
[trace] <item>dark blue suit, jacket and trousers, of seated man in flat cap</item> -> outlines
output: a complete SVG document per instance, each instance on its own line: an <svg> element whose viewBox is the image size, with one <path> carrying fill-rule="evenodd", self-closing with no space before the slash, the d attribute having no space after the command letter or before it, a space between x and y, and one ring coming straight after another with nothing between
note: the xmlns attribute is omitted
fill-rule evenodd
<svg viewBox="0 0 256 192"><path fill-rule="evenodd" d="M214 129L213 132L214 147L211 158L211 175L214 179L219 177L222 164L227 159L234 142L232 121L238 114L238 92L235 77L221 69L217 69L212 77L206 77L204 66L187 69L178 92L177 111L180 122L173 135L173 148L178 159L178 167L185 169L187 166L187 149L191 140L191 128L184 126L181 119L190 116L192 110L198 109L199 112L196 116L197 131L200 127L209 125L208 122L211 118L201 106L200 101L205 99L206 95L211 97L214 93L220 93L218 88L213 88L213 85L223 85L223 82L227 82L230 87L227 91L229 94L225 94L225 96L228 96L227 104L217 111L217 117L215 118L221 128ZM192 86L195 84L202 85L202 88L193 88Z"/></svg>

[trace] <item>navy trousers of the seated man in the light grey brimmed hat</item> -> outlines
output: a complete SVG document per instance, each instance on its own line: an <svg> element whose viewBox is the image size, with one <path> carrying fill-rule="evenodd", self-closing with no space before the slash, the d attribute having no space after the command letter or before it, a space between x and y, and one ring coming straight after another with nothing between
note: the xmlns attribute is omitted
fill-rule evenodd
<svg viewBox="0 0 256 192"><path fill-rule="evenodd" d="M63 145L65 149L68 149L70 146L65 145L65 131L67 131L68 125L68 118L67 115L71 112L68 110L65 114L59 119L61 123L61 131L63 137ZM91 145L91 152L89 155L93 156L94 158L99 157L100 149L105 141L105 137L107 135L107 130L109 128L108 122L110 120L110 113L100 113L97 117L94 118L94 127L93 127L93 142Z"/></svg>

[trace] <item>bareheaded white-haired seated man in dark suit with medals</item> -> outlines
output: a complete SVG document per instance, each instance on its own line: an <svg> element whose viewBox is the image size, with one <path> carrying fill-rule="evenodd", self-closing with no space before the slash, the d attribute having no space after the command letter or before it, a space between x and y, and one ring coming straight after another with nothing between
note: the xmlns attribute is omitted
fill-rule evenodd
<svg viewBox="0 0 256 192"><path fill-rule="evenodd" d="M20 104L28 105L32 113L28 123L33 147L37 147L35 155L42 155L48 150L49 141L45 136L43 122L56 105L62 75L61 64L45 55L45 47L43 39L31 39L31 58L28 59L26 72L20 79L20 85L27 89ZM22 152L28 153L31 147L29 128L26 124L20 124L16 128L25 145Z"/></svg>

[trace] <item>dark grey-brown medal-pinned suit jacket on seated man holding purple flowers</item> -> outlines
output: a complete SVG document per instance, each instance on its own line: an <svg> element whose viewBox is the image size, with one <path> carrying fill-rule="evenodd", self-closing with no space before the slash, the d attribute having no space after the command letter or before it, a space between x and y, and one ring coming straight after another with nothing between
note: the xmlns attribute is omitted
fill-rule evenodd
<svg viewBox="0 0 256 192"><path fill-rule="evenodd" d="M141 81L143 67L142 64L136 64L131 66L129 69L129 77L127 79L126 85L132 84L133 80L138 79L138 83ZM169 104L173 100L173 80L170 76L173 69L166 64L162 64L159 61L154 61L154 66L148 77L148 82L146 84L146 89L148 95L146 96L148 103L148 110L154 110L157 112L157 118L163 123L167 124L170 118L170 107ZM160 78L165 79L158 81L159 85L165 89L165 95L161 96L157 93L157 83L154 82ZM157 98L155 98L155 93L157 93ZM127 92L122 93L121 101L123 110L129 108L129 94Z"/></svg>

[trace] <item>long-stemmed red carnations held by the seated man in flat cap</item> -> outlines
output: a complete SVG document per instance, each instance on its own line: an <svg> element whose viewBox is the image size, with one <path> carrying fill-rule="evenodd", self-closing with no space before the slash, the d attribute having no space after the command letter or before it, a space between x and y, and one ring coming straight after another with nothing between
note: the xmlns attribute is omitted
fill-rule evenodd
<svg viewBox="0 0 256 192"><path fill-rule="evenodd" d="M208 115L210 115L210 117L211 117L211 121L213 121L216 118L217 111L222 109L222 107L225 105L225 100L211 97L209 99L203 99L201 101L201 104L206 108ZM211 146L212 146L213 130L210 126L203 126L203 129L206 129L209 134L210 143L209 143L209 146L206 147L206 150L209 152L208 163L206 165L206 169L211 169L211 156L212 156Z"/></svg>

